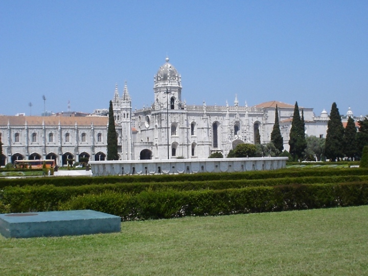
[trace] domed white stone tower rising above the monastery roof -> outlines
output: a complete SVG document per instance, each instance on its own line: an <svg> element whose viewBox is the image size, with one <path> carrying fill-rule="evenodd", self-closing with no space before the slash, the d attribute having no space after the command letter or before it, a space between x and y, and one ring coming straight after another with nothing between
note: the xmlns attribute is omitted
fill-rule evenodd
<svg viewBox="0 0 368 276"><path fill-rule="evenodd" d="M181 108L181 76L169 63L169 58L154 76L153 91L155 109L166 109L167 104L169 109Z"/></svg>

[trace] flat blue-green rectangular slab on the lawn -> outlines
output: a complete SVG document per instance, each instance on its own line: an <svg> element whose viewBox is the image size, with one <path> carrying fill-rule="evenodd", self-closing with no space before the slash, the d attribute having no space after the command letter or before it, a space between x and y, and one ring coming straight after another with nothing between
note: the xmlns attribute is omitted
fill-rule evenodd
<svg viewBox="0 0 368 276"><path fill-rule="evenodd" d="M92 210L0 214L0 234L6 238L59 237L120 231L120 217Z"/></svg>

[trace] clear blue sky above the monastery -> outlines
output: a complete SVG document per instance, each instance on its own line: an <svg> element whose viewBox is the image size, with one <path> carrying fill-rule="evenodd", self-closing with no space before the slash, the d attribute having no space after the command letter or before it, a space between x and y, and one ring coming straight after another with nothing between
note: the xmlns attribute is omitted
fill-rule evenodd
<svg viewBox="0 0 368 276"><path fill-rule="evenodd" d="M368 114L368 1L337 0L0 0L0 114L108 108L125 81L140 109L166 56L187 104Z"/></svg>

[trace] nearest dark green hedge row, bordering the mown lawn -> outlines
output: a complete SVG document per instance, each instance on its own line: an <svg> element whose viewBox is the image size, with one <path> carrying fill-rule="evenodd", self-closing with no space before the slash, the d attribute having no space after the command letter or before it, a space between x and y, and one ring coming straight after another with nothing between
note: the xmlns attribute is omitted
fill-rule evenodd
<svg viewBox="0 0 368 276"><path fill-rule="evenodd" d="M368 204L368 182L248 187L218 191L85 195L60 210L90 209L125 220L216 216Z"/></svg>

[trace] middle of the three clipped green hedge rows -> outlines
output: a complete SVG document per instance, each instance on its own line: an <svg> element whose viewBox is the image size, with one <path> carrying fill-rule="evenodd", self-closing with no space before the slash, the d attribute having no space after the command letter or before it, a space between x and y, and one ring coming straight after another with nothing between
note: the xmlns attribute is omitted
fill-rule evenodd
<svg viewBox="0 0 368 276"><path fill-rule="evenodd" d="M135 195L142 192L163 191L200 191L228 190L245 187L282 186L314 183L341 183L368 181L368 176L322 176L322 177L291 177L269 179L217 180L217 181L185 181L158 183L116 183L106 185L84 185L55 187L53 185L7 187L0 191L0 204L3 212L54 211L59 205L72 197L105 192ZM5 208L7 206L7 208Z"/></svg>

